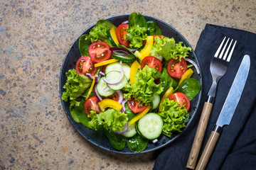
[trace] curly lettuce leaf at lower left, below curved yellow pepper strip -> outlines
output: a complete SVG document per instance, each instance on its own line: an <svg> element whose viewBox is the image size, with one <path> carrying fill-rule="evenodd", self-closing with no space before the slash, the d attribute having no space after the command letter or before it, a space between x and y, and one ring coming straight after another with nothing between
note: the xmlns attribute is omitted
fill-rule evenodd
<svg viewBox="0 0 256 170"><path fill-rule="evenodd" d="M91 118L90 122L87 123L87 128L97 130L98 125L102 125L105 130L119 130L122 132L122 128L128 122L128 117L126 113L114 110L114 108L109 108L100 114L95 111L90 111Z"/></svg>

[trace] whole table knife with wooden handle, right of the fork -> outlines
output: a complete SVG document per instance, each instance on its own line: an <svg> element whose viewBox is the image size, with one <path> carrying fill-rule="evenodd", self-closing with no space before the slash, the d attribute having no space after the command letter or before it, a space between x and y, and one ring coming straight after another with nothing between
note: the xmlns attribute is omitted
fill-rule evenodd
<svg viewBox="0 0 256 170"><path fill-rule="evenodd" d="M220 115L218 116L215 128L210 133L210 137L208 138L206 147L203 149L203 154L199 159L196 170L206 168L208 160L210 159L210 155L212 154L215 144L220 136L220 130L223 128L224 125L230 124L230 121L235 113L235 109L238 106L238 102L240 101L242 91L245 87L245 82L247 80L249 69L250 56L245 55L238 69L238 73L235 75L235 79L230 88L230 91L228 92L228 96L225 99L223 108L220 111Z"/></svg>

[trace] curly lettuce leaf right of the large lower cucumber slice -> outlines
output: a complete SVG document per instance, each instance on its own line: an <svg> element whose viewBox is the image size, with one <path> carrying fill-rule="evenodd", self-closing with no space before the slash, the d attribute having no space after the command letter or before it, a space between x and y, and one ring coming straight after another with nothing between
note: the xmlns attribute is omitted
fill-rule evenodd
<svg viewBox="0 0 256 170"><path fill-rule="evenodd" d="M182 128L186 127L189 119L189 113L184 106L179 107L178 102L166 98L164 103L161 103L163 108L159 113L164 121L163 134L171 137L173 132L181 132Z"/></svg>

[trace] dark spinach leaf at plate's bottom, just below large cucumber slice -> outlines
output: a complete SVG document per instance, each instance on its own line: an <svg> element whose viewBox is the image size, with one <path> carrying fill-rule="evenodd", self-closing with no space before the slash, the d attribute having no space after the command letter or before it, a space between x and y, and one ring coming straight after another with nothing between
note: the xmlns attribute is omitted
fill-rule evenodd
<svg viewBox="0 0 256 170"><path fill-rule="evenodd" d="M138 133L137 135L134 135L134 137L131 137L127 140L127 145L129 149L137 153L144 151L148 143L149 143L149 140L146 140L144 137L142 137Z"/></svg>

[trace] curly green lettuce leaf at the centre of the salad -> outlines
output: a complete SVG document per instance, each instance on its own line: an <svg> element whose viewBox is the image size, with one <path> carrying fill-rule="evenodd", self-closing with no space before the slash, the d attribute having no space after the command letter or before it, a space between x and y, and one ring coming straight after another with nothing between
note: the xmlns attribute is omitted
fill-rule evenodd
<svg viewBox="0 0 256 170"><path fill-rule="evenodd" d="M137 75L137 81L130 85L124 86L124 98L129 100L132 97L137 99L140 104L145 103L149 105L154 98L154 94L161 94L164 91L162 83L155 84L154 80L161 77L161 72L148 67L147 65L143 69L139 69Z"/></svg>

